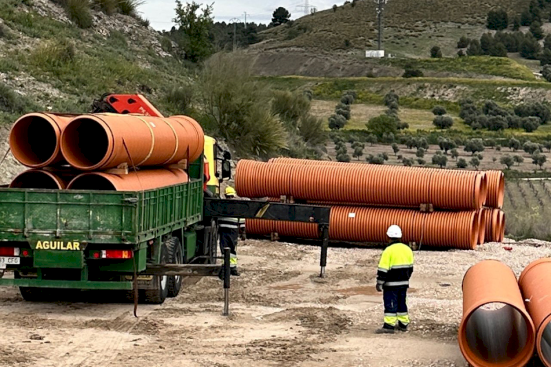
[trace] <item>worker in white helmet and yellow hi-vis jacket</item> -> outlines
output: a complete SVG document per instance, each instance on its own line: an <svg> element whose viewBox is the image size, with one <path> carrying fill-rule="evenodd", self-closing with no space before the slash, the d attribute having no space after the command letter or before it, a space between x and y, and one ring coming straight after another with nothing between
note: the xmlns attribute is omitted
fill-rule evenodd
<svg viewBox="0 0 551 367"><path fill-rule="evenodd" d="M402 229L388 227L389 244L384 249L377 270L377 291L383 292L384 324L377 334L393 334L407 331L409 324L407 295L409 279L413 273L413 251L402 243ZM397 324L397 325L396 325Z"/></svg>

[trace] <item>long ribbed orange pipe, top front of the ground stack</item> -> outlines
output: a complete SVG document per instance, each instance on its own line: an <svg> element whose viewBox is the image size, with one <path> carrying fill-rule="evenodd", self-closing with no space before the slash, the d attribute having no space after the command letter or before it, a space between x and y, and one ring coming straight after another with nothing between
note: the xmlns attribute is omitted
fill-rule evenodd
<svg viewBox="0 0 551 367"><path fill-rule="evenodd" d="M287 165L240 160L238 195L293 196L298 200L355 205L480 209L486 201L484 172L380 165Z"/></svg>

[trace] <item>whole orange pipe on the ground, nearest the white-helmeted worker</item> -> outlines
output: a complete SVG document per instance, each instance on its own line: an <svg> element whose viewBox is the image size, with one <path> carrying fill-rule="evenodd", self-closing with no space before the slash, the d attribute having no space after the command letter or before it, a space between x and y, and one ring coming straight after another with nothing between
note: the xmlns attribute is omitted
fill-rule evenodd
<svg viewBox="0 0 551 367"><path fill-rule="evenodd" d="M526 366L534 353L534 323L512 270L497 260L471 266L463 278L459 349L474 367Z"/></svg>

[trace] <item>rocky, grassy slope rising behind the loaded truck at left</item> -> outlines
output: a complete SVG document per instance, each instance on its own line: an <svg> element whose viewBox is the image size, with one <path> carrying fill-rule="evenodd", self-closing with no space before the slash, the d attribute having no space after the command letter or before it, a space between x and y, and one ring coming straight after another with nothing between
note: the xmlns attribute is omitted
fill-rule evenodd
<svg viewBox="0 0 551 367"><path fill-rule="evenodd" d="M26 112L89 112L92 101L107 92L145 94L164 113L182 112L169 93L189 83L189 71L173 56L172 45L162 45L159 34L141 19L92 11L92 21L91 28L81 29L50 0L2 2L2 157L8 127ZM20 170L8 156L0 183Z"/></svg>

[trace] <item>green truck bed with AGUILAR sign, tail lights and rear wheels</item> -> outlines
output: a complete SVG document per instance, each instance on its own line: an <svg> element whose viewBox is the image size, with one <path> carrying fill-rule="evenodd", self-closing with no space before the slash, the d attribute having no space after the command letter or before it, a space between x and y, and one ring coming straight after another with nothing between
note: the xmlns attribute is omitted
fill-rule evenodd
<svg viewBox="0 0 551 367"><path fill-rule="evenodd" d="M14 272L0 286L19 286L25 300L52 289L132 291L148 265L212 262L216 238L201 243L202 162L189 166L189 182L147 191L0 188L0 275ZM137 280L152 303L181 284L179 276Z"/></svg>

